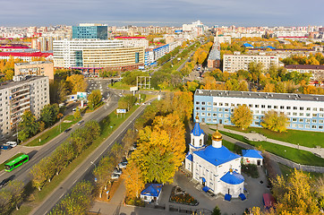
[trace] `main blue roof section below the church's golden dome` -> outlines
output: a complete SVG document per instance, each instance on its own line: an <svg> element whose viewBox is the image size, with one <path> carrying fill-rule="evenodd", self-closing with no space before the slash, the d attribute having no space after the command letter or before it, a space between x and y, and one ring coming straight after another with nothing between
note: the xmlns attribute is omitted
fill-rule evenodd
<svg viewBox="0 0 324 215"><path fill-rule="evenodd" d="M238 159L241 156L233 153L228 150L225 146L220 148L214 148L212 145L209 145L203 150L193 151L196 155L198 155L201 159L205 159L209 161L209 163L218 166L223 163L226 163L233 159Z"/></svg>

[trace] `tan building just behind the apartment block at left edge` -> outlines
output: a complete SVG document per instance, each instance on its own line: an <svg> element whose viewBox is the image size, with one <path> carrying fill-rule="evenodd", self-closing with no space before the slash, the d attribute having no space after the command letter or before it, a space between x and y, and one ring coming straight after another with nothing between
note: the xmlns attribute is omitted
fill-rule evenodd
<svg viewBox="0 0 324 215"><path fill-rule="evenodd" d="M50 61L33 61L14 64L14 75L48 76L54 80L54 67Z"/></svg>

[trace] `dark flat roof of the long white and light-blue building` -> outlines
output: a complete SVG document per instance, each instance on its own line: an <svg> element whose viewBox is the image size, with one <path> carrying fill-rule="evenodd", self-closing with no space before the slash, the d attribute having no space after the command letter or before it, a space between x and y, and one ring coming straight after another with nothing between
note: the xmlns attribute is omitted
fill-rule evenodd
<svg viewBox="0 0 324 215"><path fill-rule="evenodd" d="M196 90L195 96L212 96L244 99L283 99L303 101L324 101L324 95L254 92L254 91L226 91L226 90Z"/></svg>

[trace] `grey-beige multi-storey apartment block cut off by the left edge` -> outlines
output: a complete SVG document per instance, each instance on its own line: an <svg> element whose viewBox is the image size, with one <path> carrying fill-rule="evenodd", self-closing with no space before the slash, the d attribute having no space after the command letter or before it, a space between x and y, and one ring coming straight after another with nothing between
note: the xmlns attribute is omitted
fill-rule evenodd
<svg viewBox="0 0 324 215"><path fill-rule="evenodd" d="M39 117L49 104L47 76L14 76L14 82L0 83L0 138L16 131L24 111Z"/></svg>

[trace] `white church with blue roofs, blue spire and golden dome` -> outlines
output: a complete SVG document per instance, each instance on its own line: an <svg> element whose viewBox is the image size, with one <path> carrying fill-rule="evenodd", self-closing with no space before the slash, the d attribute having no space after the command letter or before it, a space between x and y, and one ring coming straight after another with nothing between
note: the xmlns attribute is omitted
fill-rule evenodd
<svg viewBox="0 0 324 215"><path fill-rule="evenodd" d="M199 117L196 116L189 152L185 157L185 168L192 173L192 178L203 185L203 191L233 198L241 196L244 189L241 156L223 146L222 134L218 130L213 133L212 144L209 146L204 144L204 135Z"/></svg>

